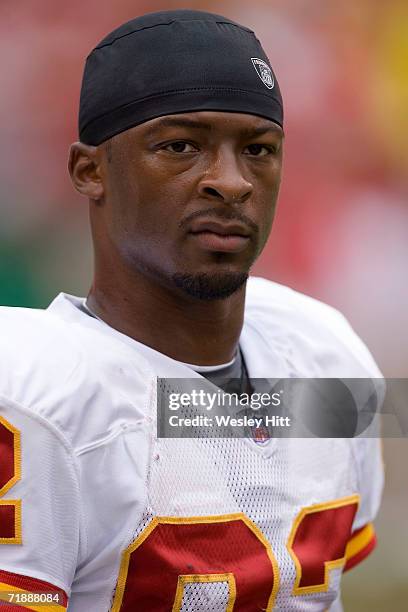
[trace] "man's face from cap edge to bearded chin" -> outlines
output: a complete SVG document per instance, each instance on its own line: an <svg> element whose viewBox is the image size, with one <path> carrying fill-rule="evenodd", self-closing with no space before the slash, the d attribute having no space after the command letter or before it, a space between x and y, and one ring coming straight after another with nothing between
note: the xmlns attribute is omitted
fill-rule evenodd
<svg viewBox="0 0 408 612"><path fill-rule="evenodd" d="M103 223L131 269L199 299L234 293L262 251L282 129L248 114L160 117L103 149Z"/></svg>

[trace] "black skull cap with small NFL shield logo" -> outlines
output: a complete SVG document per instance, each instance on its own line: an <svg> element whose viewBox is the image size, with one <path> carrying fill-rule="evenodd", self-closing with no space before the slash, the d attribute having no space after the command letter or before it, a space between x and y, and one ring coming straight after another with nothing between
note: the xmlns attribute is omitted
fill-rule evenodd
<svg viewBox="0 0 408 612"><path fill-rule="evenodd" d="M132 19L89 54L81 89L79 137L99 145L164 115L249 113L283 127L276 76L254 32L193 10Z"/></svg>

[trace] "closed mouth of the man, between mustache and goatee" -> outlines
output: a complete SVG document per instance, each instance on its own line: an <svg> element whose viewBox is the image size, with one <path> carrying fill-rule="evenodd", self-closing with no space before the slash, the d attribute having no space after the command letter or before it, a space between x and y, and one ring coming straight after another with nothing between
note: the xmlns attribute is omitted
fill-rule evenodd
<svg viewBox="0 0 408 612"><path fill-rule="evenodd" d="M250 241L250 230L237 222L197 220L189 233L207 251L239 253Z"/></svg>

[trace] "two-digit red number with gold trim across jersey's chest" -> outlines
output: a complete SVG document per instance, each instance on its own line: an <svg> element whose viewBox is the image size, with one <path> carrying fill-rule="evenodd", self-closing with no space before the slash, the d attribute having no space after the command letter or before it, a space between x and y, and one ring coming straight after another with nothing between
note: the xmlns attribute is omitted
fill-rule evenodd
<svg viewBox="0 0 408 612"><path fill-rule="evenodd" d="M358 495L303 508L287 547L296 567L293 595L329 588L342 567ZM270 543L244 514L154 518L123 554L112 612L179 612L189 583L228 585L226 612L273 609L279 568Z"/></svg>

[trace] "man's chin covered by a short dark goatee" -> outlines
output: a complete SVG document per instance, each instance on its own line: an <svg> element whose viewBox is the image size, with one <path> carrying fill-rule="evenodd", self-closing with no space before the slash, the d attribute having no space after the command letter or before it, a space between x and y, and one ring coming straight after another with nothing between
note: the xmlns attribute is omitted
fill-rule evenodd
<svg viewBox="0 0 408 612"><path fill-rule="evenodd" d="M176 273L173 275L173 283L178 289L191 297L204 301L225 300L241 289L247 280L247 272Z"/></svg>

